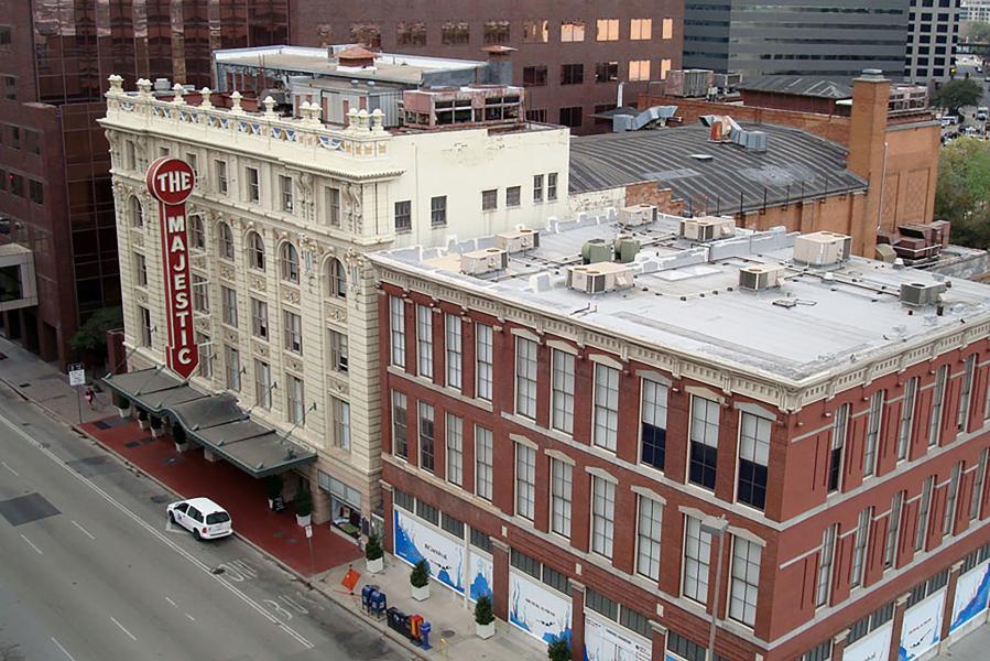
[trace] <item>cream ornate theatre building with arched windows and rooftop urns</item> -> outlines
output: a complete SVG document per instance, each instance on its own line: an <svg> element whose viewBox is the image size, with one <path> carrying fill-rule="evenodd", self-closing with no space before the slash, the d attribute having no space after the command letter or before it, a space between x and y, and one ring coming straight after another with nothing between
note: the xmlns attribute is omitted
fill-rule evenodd
<svg viewBox="0 0 990 661"><path fill-rule="evenodd" d="M178 87L177 87L178 89ZM443 246L566 216L567 129L520 123L389 132L380 112L347 128L319 109L214 107L208 90L160 98L111 77L106 129L118 210L131 370L164 364L157 207L144 175L193 165L191 266L200 367L258 422L317 453L302 468L315 520L379 506L378 294L365 251ZM214 100L220 100L214 96ZM317 488L322 487L322 488ZM330 505L328 491L339 502Z"/></svg>

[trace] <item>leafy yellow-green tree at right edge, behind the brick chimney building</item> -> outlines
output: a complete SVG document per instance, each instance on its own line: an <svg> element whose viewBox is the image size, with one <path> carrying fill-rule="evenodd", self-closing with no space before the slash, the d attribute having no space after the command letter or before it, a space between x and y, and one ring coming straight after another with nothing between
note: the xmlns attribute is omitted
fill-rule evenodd
<svg viewBox="0 0 990 661"><path fill-rule="evenodd" d="M960 138L942 148L935 217L953 224L954 243L990 248L990 142Z"/></svg>

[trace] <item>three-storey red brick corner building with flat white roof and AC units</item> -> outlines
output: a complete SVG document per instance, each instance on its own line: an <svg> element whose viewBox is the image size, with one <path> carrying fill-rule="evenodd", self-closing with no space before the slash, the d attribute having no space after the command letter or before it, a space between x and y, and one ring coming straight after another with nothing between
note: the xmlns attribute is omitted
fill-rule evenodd
<svg viewBox="0 0 990 661"><path fill-rule="evenodd" d="M701 661L712 610L728 661L986 621L988 290L630 218L371 256L387 549L574 659Z"/></svg>

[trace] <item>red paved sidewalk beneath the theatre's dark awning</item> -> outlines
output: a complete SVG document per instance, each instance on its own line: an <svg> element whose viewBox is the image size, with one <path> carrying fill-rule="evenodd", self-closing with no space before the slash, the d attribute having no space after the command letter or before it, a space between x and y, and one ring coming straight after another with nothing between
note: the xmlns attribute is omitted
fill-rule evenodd
<svg viewBox="0 0 990 661"><path fill-rule="evenodd" d="M106 423L115 426L106 427ZM191 444L183 454L175 452L168 437L152 440L135 422L106 419L83 425L86 432L116 453L153 475L186 498L206 496L220 503L233 519L233 528L301 574L309 575L309 546L306 534L295 522L292 508L275 513L268 508L264 485L236 466L219 459L207 462ZM162 508L162 516L165 516ZM313 527L313 556L317 573L360 557L358 546L329 529Z"/></svg>

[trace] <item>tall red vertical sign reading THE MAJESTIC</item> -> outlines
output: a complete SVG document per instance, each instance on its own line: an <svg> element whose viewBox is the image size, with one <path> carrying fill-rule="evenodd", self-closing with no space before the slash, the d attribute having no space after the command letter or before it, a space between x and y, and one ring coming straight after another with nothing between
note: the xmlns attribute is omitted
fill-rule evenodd
<svg viewBox="0 0 990 661"><path fill-rule="evenodd" d="M162 272L165 275L165 319L168 367L188 379L199 364L199 348L193 333L193 291L189 281L186 199L193 193L195 175L185 161L162 156L148 169L148 192L159 201L162 231Z"/></svg>

